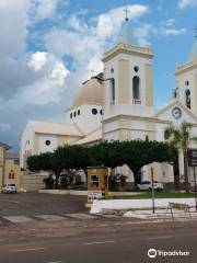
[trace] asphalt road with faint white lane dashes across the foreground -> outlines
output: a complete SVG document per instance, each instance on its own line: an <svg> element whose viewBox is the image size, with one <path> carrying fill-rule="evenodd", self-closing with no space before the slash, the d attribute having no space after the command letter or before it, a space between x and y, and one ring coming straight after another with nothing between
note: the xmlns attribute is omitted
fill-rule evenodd
<svg viewBox="0 0 197 263"><path fill-rule="evenodd" d="M48 225L48 229L23 226L26 231L22 233L19 229L15 239L0 239L0 262L197 262L197 222L141 224L108 220L79 221L72 226L59 224L59 228ZM189 255L157 255L150 259L149 249L167 252L181 250Z"/></svg>

